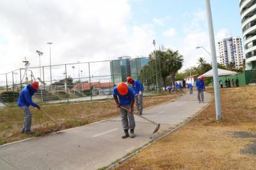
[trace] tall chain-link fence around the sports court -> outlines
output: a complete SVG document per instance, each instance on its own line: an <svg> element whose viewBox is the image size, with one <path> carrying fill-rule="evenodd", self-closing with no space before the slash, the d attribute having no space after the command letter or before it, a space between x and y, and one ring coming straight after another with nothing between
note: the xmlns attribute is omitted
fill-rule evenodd
<svg viewBox="0 0 256 170"><path fill-rule="evenodd" d="M111 97L113 87L127 76L140 80L145 94L163 87L159 60L154 57L120 57L118 60L76 62L20 68L0 74L0 103L16 103L20 90L31 81L40 81L37 103L92 101Z"/></svg>

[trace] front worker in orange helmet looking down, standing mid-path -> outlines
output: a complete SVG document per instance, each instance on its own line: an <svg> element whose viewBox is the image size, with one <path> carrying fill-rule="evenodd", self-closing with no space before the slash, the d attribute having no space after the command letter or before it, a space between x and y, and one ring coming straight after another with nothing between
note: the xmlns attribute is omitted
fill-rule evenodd
<svg viewBox="0 0 256 170"><path fill-rule="evenodd" d="M135 128L135 120L133 115L133 106L134 106L134 91L131 87L128 87L124 82L119 83L113 89L113 97L115 99L116 107L120 108L120 116L122 118L122 126L124 129L123 139L129 137L129 129L130 129L130 137L134 138L134 128ZM127 108L125 110L124 108Z"/></svg>

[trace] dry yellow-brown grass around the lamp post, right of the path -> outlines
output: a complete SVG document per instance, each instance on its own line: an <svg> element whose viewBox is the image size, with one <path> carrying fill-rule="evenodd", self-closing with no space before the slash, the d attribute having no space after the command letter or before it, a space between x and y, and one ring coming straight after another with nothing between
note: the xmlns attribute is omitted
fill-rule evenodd
<svg viewBox="0 0 256 170"><path fill-rule="evenodd" d="M212 92L209 89L209 92ZM221 89L215 104L116 169L255 169L256 87Z"/></svg>

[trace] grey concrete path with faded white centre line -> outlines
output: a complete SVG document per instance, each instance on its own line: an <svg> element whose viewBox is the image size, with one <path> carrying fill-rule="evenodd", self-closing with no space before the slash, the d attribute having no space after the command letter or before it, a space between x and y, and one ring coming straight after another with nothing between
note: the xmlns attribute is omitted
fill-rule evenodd
<svg viewBox="0 0 256 170"><path fill-rule="evenodd" d="M99 169L193 117L210 98L210 94L205 93L205 103L198 103L195 94L186 94L174 102L145 109L144 117L161 124L156 134L152 134L156 125L136 116L136 138L121 139L122 125L116 117L2 145L0 169Z"/></svg>

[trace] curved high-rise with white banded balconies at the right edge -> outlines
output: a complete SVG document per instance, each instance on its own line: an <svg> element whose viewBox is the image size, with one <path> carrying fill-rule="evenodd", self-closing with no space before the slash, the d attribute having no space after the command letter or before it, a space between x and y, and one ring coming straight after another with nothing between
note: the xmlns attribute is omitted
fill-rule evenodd
<svg viewBox="0 0 256 170"><path fill-rule="evenodd" d="M239 0L246 69L256 68L256 1Z"/></svg>

